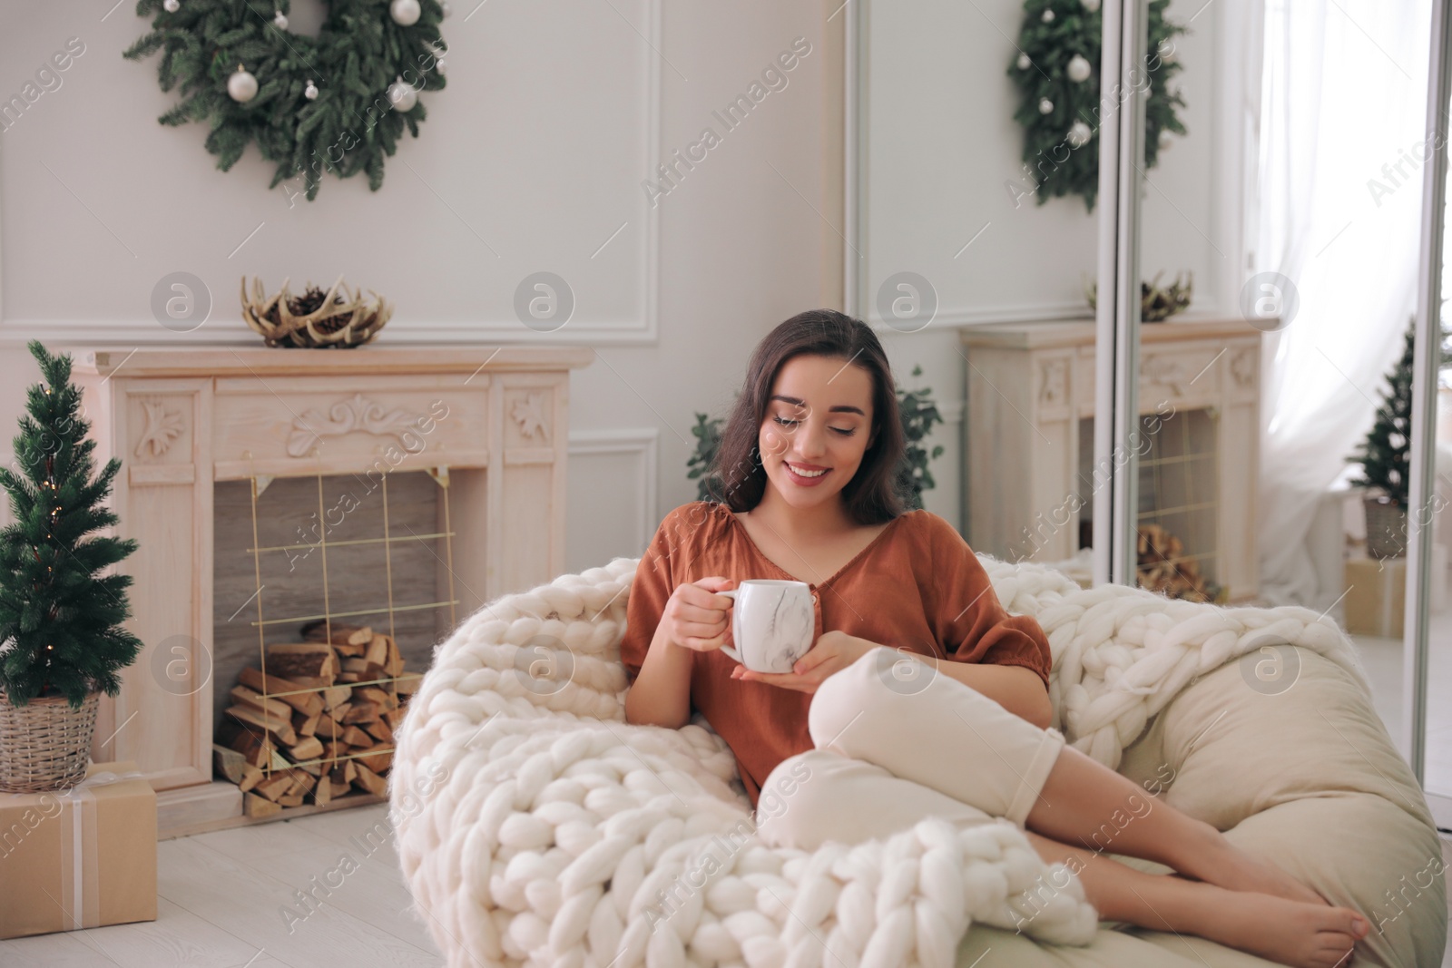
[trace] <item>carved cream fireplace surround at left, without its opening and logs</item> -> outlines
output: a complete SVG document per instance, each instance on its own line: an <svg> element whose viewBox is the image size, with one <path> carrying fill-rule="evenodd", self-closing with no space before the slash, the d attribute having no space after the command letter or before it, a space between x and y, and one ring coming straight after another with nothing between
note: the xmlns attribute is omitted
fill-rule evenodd
<svg viewBox="0 0 1452 968"><path fill-rule="evenodd" d="M103 697L91 755L138 763L163 836L241 814L237 787L212 782L213 691L232 685L209 675L215 482L441 476L460 620L565 567L569 370L590 348L65 350L99 464L123 463L116 536L138 540L119 569L144 649Z"/></svg>

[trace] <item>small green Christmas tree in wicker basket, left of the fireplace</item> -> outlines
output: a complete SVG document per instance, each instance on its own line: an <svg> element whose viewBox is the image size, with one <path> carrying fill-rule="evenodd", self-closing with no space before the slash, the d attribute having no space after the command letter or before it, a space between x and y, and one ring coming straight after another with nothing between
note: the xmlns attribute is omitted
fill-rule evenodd
<svg viewBox="0 0 1452 968"><path fill-rule="evenodd" d="M141 640L126 631L129 575L100 575L136 550L134 538L94 536L118 522L105 505L121 460L93 477L71 358L29 343L42 383L30 387L0 467L15 522L0 530L0 789L60 789L86 775L102 692ZM87 537L90 536L90 537Z"/></svg>

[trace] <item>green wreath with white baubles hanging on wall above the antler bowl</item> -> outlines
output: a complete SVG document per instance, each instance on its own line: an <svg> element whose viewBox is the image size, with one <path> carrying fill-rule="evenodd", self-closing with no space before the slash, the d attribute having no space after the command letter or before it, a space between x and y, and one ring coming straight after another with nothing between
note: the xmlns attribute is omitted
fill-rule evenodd
<svg viewBox="0 0 1452 968"><path fill-rule="evenodd" d="M182 100L157 120L205 120L206 149L227 171L251 141L277 170L302 177L311 202L324 171L383 184L404 125L417 138L418 91L444 87L440 0L325 0L317 38L287 30L290 0L138 0L151 32L123 57L163 51L161 90Z"/></svg>

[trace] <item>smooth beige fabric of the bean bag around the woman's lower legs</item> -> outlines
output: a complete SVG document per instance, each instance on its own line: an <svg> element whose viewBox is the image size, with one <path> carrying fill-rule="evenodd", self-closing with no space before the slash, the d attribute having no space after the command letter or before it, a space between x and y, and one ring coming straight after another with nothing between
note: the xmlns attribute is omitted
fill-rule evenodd
<svg viewBox="0 0 1452 968"><path fill-rule="evenodd" d="M1435 968L1446 945L1442 846L1411 769L1352 675L1295 649L1294 684L1268 694L1231 662L1185 688L1125 749L1119 772L1215 824L1333 904L1372 923L1358 967ZM1115 858L1124 859L1124 858ZM1163 872L1166 868L1128 861ZM1394 904L1391 897L1398 900ZM1272 962L1199 938L1102 927L1089 948L974 926L958 965L1246 968Z"/></svg>

